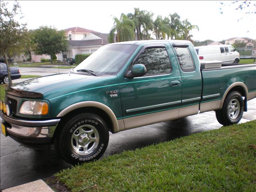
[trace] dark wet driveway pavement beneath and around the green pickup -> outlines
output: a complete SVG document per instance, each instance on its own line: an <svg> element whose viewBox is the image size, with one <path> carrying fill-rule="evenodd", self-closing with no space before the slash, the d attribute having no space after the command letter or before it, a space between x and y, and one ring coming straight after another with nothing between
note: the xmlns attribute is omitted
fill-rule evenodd
<svg viewBox="0 0 256 192"><path fill-rule="evenodd" d="M248 102L248 112L244 112L240 123L254 119L256 119L256 98ZM215 112L212 111L110 134L109 145L104 156L218 129L221 126L215 118ZM43 179L71 167L56 154L54 146L45 151L35 151L21 146L2 134L0 140L1 190Z"/></svg>

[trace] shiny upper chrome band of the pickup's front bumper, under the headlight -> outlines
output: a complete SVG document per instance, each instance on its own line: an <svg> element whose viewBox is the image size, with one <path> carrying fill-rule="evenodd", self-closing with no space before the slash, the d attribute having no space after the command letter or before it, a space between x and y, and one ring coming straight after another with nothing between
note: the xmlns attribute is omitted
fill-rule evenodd
<svg viewBox="0 0 256 192"><path fill-rule="evenodd" d="M15 124L15 125L20 125L20 126L28 126L28 127L37 127L37 126L50 126L50 125L56 125L58 124L58 122L60 121L60 118L58 119L50 119L50 120L42 120L42 121L29 121L29 120L22 120L22 119L18 119L18 118L10 118L8 116L6 116L5 114L3 114L1 112L1 118L9 123L9 124Z"/></svg>

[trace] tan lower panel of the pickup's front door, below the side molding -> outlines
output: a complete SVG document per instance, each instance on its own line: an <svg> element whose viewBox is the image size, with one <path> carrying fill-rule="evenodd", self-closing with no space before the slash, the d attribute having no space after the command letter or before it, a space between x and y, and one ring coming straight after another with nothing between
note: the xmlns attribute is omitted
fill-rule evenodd
<svg viewBox="0 0 256 192"><path fill-rule="evenodd" d="M178 118L179 108L124 118L125 129L132 129ZM120 128L119 128L120 129Z"/></svg>

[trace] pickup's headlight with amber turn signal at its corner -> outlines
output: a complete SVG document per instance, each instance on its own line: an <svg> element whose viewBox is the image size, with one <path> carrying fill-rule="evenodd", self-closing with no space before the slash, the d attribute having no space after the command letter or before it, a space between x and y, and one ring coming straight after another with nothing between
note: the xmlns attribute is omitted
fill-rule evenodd
<svg viewBox="0 0 256 192"><path fill-rule="evenodd" d="M48 104L41 101L25 101L20 107L20 114L45 115L48 114Z"/></svg>

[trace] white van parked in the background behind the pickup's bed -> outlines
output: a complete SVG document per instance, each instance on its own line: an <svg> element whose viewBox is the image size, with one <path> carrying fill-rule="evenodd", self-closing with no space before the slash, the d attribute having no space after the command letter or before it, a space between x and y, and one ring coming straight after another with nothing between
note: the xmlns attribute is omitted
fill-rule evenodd
<svg viewBox="0 0 256 192"><path fill-rule="evenodd" d="M222 61L234 62L240 61L240 54L232 45L207 45L195 47L200 61Z"/></svg>

